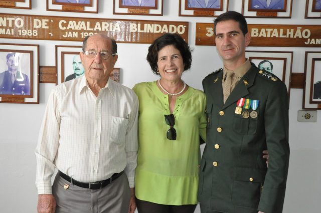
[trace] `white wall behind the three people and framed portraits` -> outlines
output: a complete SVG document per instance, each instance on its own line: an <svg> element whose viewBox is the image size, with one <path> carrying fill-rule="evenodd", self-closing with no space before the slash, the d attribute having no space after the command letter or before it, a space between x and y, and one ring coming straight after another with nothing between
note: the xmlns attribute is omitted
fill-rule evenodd
<svg viewBox="0 0 321 213"><path fill-rule="evenodd" d="M241 11L240 0L230 0L229 10ZM46 11L45 0L32 0L32 10L0 8L0 13L70 16L105 19L136 19L189 22L189 44L194 48L191 71L183 74L190 86L202 89L202 79L208 73L222 67L222 61L213 46L195 46L195 24L211 23L213 18L179 17L179 1L164 0L164 16L126 16L112 14L112 0L99 1L99 14L66 13ZM305 1L293 0L291 19L254 19L248 24L320 25L321 20L304 19ZM55 66L55 45L81 45L80 42L0 39L0 43L39 44L40 65ZM142 81L157 79L145 61L146 44L118 44L118 61L121 82L133 87ZM249 47L247 50L294 51L292 72L304 72L304 52L321 51L321 48L273 48ZM4 65L1 66L5 69ZM4 70L0 70L3 72ZM40 84L40 104L0 103L0 212L36 212L37 191L35 187L36 147L39 129L48 95L54 84ZM299 123L297 111L302 107L302 89L290 93L290 168L284 211L316 213L321 208L321 111L317 123ZM317 128L318 127L318 128ZM200 212L197 208L196 212Z"/></svg>

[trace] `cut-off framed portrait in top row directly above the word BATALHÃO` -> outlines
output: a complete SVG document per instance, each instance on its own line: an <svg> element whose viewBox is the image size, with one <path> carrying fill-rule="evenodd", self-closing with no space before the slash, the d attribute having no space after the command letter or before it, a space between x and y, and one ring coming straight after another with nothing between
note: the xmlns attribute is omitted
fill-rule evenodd
<svg viewBox="0 0 321 213"><path fill-rule="evenodd" d="M291 18L292 0L242 0L246 18Z"/></svg>

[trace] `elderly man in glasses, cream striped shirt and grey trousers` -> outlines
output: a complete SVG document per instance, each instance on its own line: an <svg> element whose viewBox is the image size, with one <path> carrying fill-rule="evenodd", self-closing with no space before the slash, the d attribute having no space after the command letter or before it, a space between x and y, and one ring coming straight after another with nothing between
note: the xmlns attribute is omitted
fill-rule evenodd
<svg viewBox="0 0 321 213"><path fill-rule="evenodd" d="M58 85L47 104L35 151L38 212L133 213L138 98L109 79L114 40L86 37L80 58L85 75Z"/></svg>

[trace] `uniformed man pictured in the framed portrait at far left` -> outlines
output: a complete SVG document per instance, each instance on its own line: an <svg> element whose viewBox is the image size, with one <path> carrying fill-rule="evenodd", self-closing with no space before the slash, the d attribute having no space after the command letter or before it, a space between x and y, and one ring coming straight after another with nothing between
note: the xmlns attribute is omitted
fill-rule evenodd
<svg viewBox="0 0 321 213"><path fill-rule="evenodd" d="M8 70L0 73L0 95L30 95L30 82L22 73L19 53L7 54Z"/></svg>

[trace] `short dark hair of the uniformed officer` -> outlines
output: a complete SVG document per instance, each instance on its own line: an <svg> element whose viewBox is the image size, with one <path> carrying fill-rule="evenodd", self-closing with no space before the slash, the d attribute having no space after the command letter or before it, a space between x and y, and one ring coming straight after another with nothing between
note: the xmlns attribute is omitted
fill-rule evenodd
<svg viewBox="0 0 321 213"><path fill-rule="evenodd" d="M240 13L235 12L235 11L228 11L224 14L221 14L219 17L217 17L215 19L215 21L214 21L214 35L216 35L217 23L223 22L223 21L229 21L229 20L233 20L233 21L239 23L239 27L240 27L244 36L245 36L245 34L248 33L247 23L246 23L244 16Z"/></svg>

